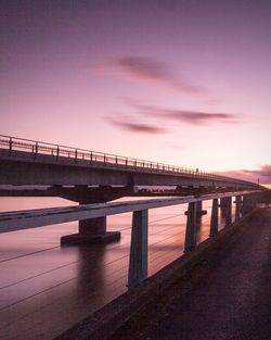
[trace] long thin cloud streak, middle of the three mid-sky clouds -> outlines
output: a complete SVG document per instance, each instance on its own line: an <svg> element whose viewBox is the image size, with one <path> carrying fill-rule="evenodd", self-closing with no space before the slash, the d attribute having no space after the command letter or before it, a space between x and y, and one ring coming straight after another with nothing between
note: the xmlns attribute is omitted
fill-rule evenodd
<svg viewBox="0 0 271 340"><path fill-rule="evenodd" d="M205 125L210 123L237 123L240 118L238 115L232 113L159 109L156 106L142 105L137 102L130 104L134 109L138 109L140 114L144 114L145 116L184 122L193 125Z"/></svg>

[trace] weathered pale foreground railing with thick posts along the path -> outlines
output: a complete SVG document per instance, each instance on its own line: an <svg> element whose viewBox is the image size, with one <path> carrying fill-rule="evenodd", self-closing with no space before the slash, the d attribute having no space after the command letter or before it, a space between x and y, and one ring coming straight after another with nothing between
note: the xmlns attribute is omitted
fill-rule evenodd
<svg viewBox="0 0 271 340"><path fill-rule="evenodd" d="M219 234L219 206L221 212L223 211L224 228L228 228L232 225L233 221L236 223L254 211L257 207L260 196L261 192L259 190L247 190L206 194L199 198L190 196L185 198L150 199L4 212L0 213L0 234L132 212L128 286L134 287L147 277L149 210L188 204L184 252L189 252L196 249L198 244L196 238L198 214L202 213L201 204L199 210L197 209L199 202L212 200L209 218L209 237L215 237ZM235 197L234 216L232 211L233 197ZM218 204L219 199L220 204Z"/></svg>

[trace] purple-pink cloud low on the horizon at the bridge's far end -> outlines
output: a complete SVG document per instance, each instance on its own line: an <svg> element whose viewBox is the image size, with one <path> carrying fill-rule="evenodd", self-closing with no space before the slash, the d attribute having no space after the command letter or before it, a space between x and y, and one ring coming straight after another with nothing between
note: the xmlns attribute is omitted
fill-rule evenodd
<svg viewBox="0 0 271 340"><path fill-rule="evenodd" d="M257 182L259 179L260 184L271 184L271 164L262 165L258 169L217 172L216 174L235 177L254 182Z"/></svg>

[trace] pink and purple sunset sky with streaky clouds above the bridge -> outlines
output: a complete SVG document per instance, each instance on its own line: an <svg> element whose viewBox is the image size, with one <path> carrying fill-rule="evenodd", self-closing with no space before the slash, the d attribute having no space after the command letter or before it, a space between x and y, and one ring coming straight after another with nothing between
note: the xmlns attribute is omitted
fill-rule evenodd
<svg viewBox="0 0 271 340"><path fill-rule="evenodd" d="M1 7L2 135L271 182L270 1Z"/></svg>

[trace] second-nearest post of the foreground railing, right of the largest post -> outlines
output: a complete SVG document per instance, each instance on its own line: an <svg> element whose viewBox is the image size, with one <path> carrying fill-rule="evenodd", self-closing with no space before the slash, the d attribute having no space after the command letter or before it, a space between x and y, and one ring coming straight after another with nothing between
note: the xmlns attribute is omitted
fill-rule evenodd
<svg viewBox="0 0 271 340"><path fill-rule="evenodd" d="M196 204L197 202L189 203L184 242L185 253L196 248Z"/></svg>

